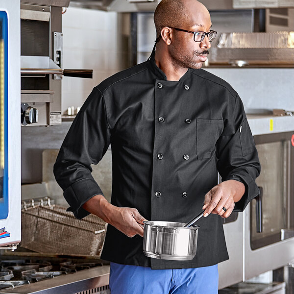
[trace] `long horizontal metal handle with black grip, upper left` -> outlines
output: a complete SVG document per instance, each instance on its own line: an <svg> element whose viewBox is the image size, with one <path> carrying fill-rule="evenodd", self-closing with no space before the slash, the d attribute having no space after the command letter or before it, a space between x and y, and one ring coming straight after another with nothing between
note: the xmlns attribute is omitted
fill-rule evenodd
<svg viewBox="0 0 294 294"><path fill-rule="evenodd" d="M63 74L64 76L93 78L93 70L21 69L21 74Z"/></svg>

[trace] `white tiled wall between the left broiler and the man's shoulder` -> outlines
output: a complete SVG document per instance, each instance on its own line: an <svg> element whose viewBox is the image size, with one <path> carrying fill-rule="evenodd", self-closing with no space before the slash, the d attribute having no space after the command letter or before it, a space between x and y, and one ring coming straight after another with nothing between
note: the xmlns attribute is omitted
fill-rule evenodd
<svg viewBox="0 0 294 294"><path fill-rule="evenodd" d="M81 106L93 87L122 69L121 15L69 7L62 16L63 68L93 69L93 79L63 77L62 112Z"/></svg>

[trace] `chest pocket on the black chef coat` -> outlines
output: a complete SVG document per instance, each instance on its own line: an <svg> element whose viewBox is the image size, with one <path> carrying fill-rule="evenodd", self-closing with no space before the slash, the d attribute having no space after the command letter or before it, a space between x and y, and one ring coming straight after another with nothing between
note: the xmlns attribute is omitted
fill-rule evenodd
<svg viewBox="0 0 294 294"><path fill-rule="evenodd" d="M198 159L210 158L223 130L222 120L197 119L196 155Z"/></svg>

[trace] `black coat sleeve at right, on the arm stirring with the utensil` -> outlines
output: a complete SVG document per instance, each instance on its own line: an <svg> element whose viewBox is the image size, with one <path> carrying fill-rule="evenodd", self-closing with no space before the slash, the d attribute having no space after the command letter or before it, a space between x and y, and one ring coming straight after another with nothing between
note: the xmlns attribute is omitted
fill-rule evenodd
<svg viewBox="0 0 294 294"><path fill-rule="evenodd" d="M235 204L234 211L243 211L259 194L255 183L260 163L243 104L237 95L228 104L224 130L217 142L217 168L223 181L233 179L245 184L245 194Z"/></svg>

